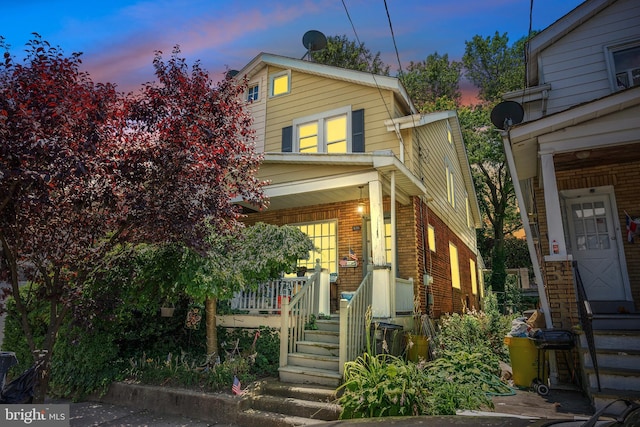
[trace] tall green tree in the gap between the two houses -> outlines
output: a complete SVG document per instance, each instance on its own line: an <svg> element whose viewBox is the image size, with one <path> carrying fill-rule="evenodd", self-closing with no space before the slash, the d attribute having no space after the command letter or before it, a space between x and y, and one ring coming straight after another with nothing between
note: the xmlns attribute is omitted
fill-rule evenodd
<svg viewBox="0 0 640 427"><path fill-rule="evenodd" d="M493 37L476 35L466 42L462 62L465 75L479 89L481 105L459 113L469 153L478 202L485 219L479 241L489 253L489 285L498 292L502 304L506 281L505 236L521 227L513 182L509 175L502 138L491 124L490 112L503 93L524 84L524 46L526 38L509 45L507 34ZM490 255L490 256L487 256Z"/></svg>

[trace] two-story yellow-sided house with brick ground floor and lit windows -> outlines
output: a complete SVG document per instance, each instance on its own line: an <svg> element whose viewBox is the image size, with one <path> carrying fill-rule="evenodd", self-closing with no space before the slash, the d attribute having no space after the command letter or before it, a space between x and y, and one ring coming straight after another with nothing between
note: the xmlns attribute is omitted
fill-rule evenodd
<svg viewBox="0 0 640 427"><path fill-rule="evenodd" d="M418 114L397 78L267 53L236 78L269 181L269 208L245 205L246 222L311 237L301 263L329 273L324 314L367 283L383 321L410 314L414 297L435 317L479 307L480 214L454 111Z"/></svg>

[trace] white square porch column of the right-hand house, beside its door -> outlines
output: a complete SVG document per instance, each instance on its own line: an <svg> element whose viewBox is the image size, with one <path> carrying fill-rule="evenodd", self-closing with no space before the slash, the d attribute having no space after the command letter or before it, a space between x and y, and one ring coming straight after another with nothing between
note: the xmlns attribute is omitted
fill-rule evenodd
<svg viewBox="0 0 640 427"><path fill-rule="evenodd" d="M556 168L553 165L553 153L541 153L542 182L544 183L544 203L547 209L547 227L549 229L549 254L551 257L566 259L567 245L564 241L562 211L556 182ZM554 252L554 241L558 245Z"/></svg>

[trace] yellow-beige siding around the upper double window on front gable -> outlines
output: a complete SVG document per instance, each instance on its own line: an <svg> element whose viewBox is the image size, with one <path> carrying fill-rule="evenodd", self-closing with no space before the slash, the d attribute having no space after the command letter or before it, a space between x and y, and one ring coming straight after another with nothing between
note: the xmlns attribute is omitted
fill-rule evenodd
<svg viewBox="0 0 640 427"><path fill-rule="evenodd" d="M282 70L271 67L268 74L277 71ZM292 71L291 93L268 100L265 151L282 151L282 128L294 119L351 106L352 111L365 110L365 151L391 149L398 155L397 138L383 125L395 110L393 93L382 94L384 103L377 88Z"/></svg>

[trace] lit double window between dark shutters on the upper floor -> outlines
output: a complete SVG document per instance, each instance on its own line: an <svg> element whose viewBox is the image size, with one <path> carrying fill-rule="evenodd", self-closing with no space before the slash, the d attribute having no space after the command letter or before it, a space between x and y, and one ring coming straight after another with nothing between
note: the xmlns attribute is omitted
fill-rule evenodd
<svg viewBox="0 0 640 427"><path fill-rule="evenodd" d="M293 131L293 151L347 153L351 148L351 108L339 108L294 120Z"/></svg>

